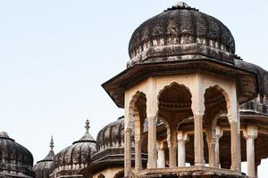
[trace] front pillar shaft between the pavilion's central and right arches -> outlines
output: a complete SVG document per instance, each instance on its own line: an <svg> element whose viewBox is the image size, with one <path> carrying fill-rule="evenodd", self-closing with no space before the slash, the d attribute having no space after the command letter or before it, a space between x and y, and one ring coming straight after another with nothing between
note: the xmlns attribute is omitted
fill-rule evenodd
<svg viewBox="0 0 268 178"><path fill-rule="evenodd" d="M195 166L205 166L204 139L203 139L203 115L194 115L195 122Z"/></svg>

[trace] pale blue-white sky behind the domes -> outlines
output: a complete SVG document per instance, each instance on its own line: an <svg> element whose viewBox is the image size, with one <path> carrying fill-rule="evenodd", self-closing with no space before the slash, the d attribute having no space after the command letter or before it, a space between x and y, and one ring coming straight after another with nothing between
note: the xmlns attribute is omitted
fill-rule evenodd
<svg viewBox="0 0 268 178"><path fill-rule="evenodd" d="M45 158L123 114L101 87L125 69L135 28L176 0L0 1L0 131ZM268 1L187 0L230 28L237 53L268 69ZM265 170L266 168L266 170ZM268 161L259 177L268 174ZM245 170L245 169L244 169Z"/></svg>

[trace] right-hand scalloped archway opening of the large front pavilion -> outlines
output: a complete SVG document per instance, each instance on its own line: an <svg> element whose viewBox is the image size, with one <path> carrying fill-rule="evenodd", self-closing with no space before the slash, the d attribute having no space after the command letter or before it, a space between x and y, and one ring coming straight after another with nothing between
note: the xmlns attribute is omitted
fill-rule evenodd
<svg viewBox="0 0 268 178"><path fill-rule="evenodd" d="M212 167L230 168L230 132L226 132L230 129L226 117L228 95L221 87L215 85L205 90L204 98L205 146L207 148L204 152L205 162Z"/></svg>

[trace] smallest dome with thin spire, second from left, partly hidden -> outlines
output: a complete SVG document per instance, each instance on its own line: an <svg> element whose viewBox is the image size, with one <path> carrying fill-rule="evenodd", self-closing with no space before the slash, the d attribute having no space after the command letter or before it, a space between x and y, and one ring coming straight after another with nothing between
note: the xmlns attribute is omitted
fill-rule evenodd
<svg viewBox="0 0 268 178"><path fill-rule="evenodd" d="M33 170L36 173L36 178L49 178L49 175L53 173L54 168L54 141L51 138L50 151L46 158L38 161L37 165L34 166Z"/></svg>

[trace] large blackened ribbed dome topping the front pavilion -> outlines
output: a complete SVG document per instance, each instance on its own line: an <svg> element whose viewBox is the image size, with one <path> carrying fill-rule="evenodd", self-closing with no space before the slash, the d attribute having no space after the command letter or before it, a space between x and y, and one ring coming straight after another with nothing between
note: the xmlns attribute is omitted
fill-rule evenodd
<svg viewBox="0 0 268 178"><path fill-rule="evenodd" d="M131 36L129 53L129 67L196 54L231 62L235 40L220 20L179 3L143 22Z"/></svg>

